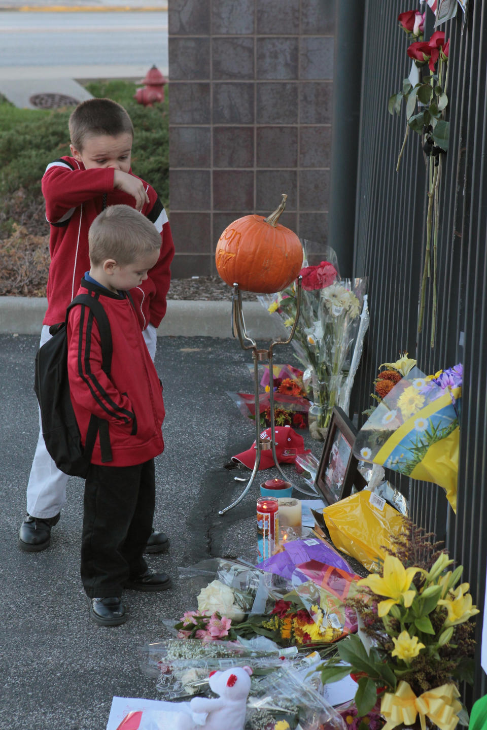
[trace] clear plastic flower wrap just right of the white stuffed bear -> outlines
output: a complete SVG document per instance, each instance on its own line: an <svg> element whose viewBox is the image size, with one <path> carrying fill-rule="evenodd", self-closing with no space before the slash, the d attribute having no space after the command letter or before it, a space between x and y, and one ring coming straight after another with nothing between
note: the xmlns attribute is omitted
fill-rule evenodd
<svg viewBox="0 0 487 730"><path fill-rule="evenodd" d="M345 730L341 715L299 672L283 663L250 690L245 730Z"/></svg>

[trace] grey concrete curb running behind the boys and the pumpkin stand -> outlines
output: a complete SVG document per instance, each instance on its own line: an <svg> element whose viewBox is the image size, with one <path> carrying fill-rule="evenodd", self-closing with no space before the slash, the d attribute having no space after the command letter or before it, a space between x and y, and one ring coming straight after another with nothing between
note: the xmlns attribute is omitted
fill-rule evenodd
<svg viewBox="0 0 487 730"><path fill-rule="evenodd" d="M0 334L39 336L47 299L29 296L0 296ZM258 301L244 301L248 334L270 340L285 334ZM169 299L158 337L231 337L231 301Z"/></svg>

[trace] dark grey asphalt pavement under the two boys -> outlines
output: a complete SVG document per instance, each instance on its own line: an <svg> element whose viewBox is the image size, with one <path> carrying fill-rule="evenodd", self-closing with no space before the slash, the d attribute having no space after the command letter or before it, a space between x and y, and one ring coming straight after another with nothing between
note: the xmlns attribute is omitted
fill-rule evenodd
<svg viewBox="0 0 487 730"><path fill-rule="evenodd" d="M37 335L0 334L0 729L104 730L112 696L160 699L155 680L139 669L138 653L164 633L163 618L179 618L191 607L178 566L210 556L256 558L258 482L277 471L260 472L264 478L242 502L218 515L241 491L233 478L236 470L224 464L254 439L253 422L226 395L253 392L251 356L231 338L160 337L156 367L164 383L166 450L156 458L154 524L169 534L171 547L166 555L147 560L173 577L173 588L153 594L126 591L129 621L112 629L96 626L79 575L82 480L69 480L50 547L24 553L17 545L38 434L32 390L37 345ZM292 362L291 348L280 361ZM321 444L301 433L319 456ZM283 470L299 480L293 466L283 465ZM250 472L239 472L244 474Z"/></svg>

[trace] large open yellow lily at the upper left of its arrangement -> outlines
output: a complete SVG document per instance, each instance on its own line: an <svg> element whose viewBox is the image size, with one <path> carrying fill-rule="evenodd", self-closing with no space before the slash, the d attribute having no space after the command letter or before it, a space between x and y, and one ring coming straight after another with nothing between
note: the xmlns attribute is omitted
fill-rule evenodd
<svg viewBox="0 0 487 730"><path fill-rule="evenodd" d="M367 578L358 581L358 585L367 585L377 596L388 596L387 601L380 601L377 604L377 612L382 618L391 610L391 606L399 604L401 599L404 606L409 608L416 595L415 590L410 590L413 577L420 572L420 568L404 568L399 558L388 555L384 560L383 577L372 574Z"/></svg>

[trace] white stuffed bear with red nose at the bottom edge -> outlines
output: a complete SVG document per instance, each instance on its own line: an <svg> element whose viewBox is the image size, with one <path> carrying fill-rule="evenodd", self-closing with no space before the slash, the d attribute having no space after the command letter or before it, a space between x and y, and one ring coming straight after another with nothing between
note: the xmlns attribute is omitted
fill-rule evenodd
<svg viewBox="0 0 487 730"><path fill-rule="evenodd" d="M251 674L250 666L210 672L210 688L219 697L158 702L157 710L142 713L138 730L243 730Z"/></svg>

